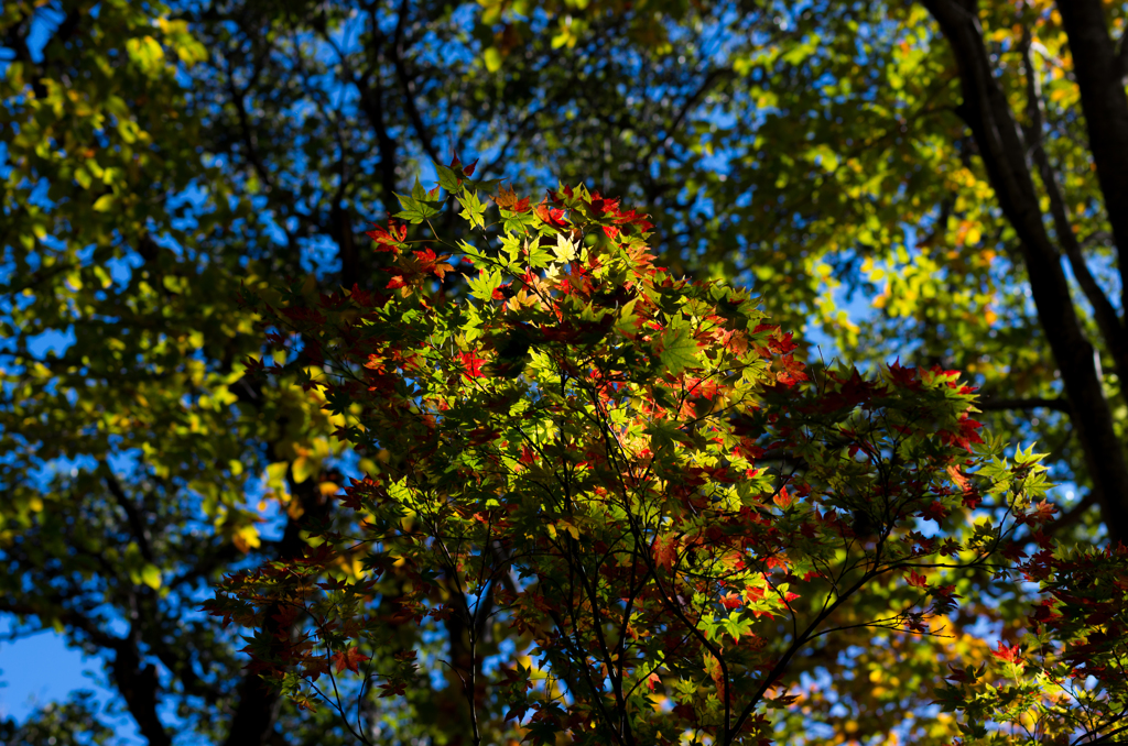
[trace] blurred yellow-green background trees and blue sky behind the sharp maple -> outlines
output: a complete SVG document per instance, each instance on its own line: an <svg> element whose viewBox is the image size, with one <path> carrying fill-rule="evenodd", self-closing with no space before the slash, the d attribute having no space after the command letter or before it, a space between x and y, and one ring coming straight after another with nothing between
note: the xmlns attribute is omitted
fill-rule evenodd
<svg viewBox="0 0 1128 746"><path fill-rule="evenodd" d="M262 340L238 295L382 285L368 222L452 154L535 201L557 179L622 196L664 264L751 286L812 362L963 371L992 429L1050 453L1058 536L1125 539L1126 16L1100 0L7 0L8 637L53 629L102 660L112 707L155 746L351 743L247 675L238 630L199 611L222 574L300 554L363 469L316 391L244 375ZM949 743L928 705L944 664L981 659L1026 613L1023 588L989 577L959 593L953 637L858 630L797 661L810 685L781 740ZM381 743L465 743L435 663L465 630L387 623L377 655L415 646L434 666L406 699L362 703ZM104 719L77 695L0 739L111 743Z"/></svg>

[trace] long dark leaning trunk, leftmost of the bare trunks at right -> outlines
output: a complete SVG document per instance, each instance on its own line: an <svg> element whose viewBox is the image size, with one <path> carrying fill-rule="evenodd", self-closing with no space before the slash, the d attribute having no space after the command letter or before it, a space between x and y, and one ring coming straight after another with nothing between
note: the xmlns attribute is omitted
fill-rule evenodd
<svg viewBox="0 0 1128 746"><path fill-rule="evenodd" d="M1060 252L1042 222L1025 143L993 74L975 0L923 0L923 5L952 47L963 92L960 116L971 128L999 206L1022 242L1038 318L1061 373L1073 410L1070 423L1084 451L1104 525L1113 541L1128 541L1128 462L1113 428L1094 348L1073 304ZM1125 174L1128 178L1128 169ZM1114 212L1112 204L1109 212Z"/></svg>

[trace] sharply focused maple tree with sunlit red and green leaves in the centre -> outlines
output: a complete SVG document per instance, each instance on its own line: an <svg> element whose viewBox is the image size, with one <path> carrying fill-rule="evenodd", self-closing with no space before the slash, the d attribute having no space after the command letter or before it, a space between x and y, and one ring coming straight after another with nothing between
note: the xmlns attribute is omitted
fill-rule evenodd
<svg viewBox="0 0 1128 746"><path fill-rule="evenodd" d="M1081 606L1078 590L1125 590L1118 556L1015 565L1021 527L1050 541L1041 456L1002 459L955 372L807 367L747 291L654 266L652 225L617 199L562 186L534 205L502 187L494 220L481 194L495 183L437 169L441 188L416 183L397 215L430 234L396 220L369 232L382 288L256 305L285 362L248 365L300 366L336 436L374 456L341 496L358 525L233 575L206 605L258 627L253 668L302 707L329 704L370 743L345 672L358 698L407 696L426 673L414 647L389 650L389 629L455 618L466 656L423 664L449 669L472 743L766 744L774 711L801 707L793 659L851 629L944 637L978 571L1054 575ZM434 233L448 199L473 238ZM468 296L449 295L452 276ZM985 499L1003 521L952 539ZM1066 579L1095 567L1101 588ZM1068 618L1069 660L1112 607L1042 613L1036 632L1048 645ZM1123 717L1113 632L1085 638L1109 661L1109 692L1084 702L1095 725L1057 702L1073 736ZM1023 684L1024 707L1006 689L942 701L979 735L986 711L1029 718L1043 685Z"/></svg>

